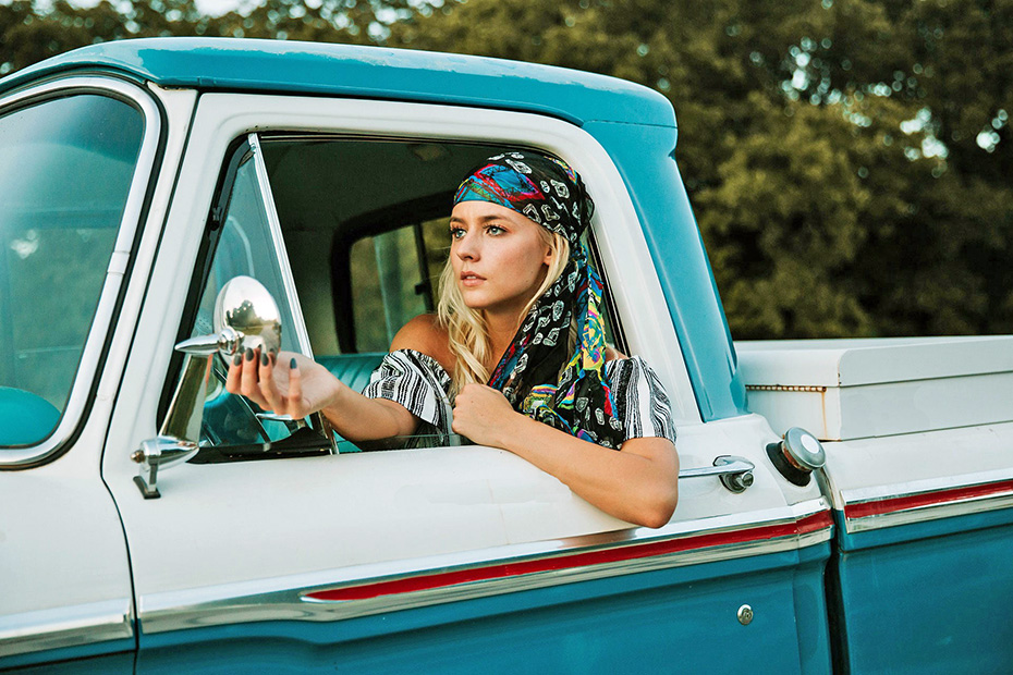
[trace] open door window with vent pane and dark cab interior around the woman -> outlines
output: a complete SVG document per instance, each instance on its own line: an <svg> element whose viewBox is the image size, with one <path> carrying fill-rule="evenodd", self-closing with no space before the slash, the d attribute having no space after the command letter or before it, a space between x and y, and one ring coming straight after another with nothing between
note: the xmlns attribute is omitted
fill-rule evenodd
<svg viewBox="0 0 1013 675"><path fill-rule="evenodd" d="M398 330L435 310L453 194L471 168L501 150L475 143L251 135L223 168L191 294L192 319L182 333L211 332L218 290L249 275L278 300L282 348L312 355L362 391ZM213 360L202 434L208 447L196 462L327 451L319 434L298 433L302 420L278 420L224 392L227 365ZM339 452L405 444L337 441ZM443 435L420 444L457 441Z"/></svg>

